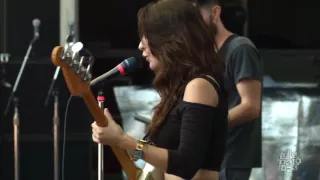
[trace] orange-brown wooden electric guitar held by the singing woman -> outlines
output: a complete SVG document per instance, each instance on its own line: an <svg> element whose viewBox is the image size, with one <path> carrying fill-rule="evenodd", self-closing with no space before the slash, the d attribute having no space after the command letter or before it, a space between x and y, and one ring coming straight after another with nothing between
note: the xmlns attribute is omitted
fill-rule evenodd
<svg viewBox="0 0 320 180"><path fill-rule="evenodd" d="M108 126L108 119L104 116L90 89L91 68L94 61L91 53L83 49L81 42L77 42L67 48L55 47L51 59L53 64L61 67L71 95L82 97L100 127ZM111 149L130 180L153 180L151 176L153 167L150 164L146 164L142 170L135 165L126 151L116 147Z"/></svg>

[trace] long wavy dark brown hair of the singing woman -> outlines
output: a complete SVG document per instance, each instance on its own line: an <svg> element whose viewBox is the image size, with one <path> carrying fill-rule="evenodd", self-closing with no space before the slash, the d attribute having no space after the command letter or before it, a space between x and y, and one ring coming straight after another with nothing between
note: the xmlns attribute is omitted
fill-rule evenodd
<svg viewBox="0 0 320 180"><path fill-rule="evenodd" d="M191 2L152 2L139 10L138 28L140 38L146 38L158 60L153 85L161 100L154 108L152 139L189 81L207 74L220 82L224 68L216 53L215 33Z"/></svg>

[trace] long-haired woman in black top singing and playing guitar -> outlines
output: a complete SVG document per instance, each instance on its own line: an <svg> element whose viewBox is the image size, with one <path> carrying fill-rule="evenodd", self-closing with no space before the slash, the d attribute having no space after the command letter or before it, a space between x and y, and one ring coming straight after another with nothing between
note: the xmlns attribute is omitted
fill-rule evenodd
<svg viewBox="0 0 320 180"><path fill-rule="evenodd" d="M138 26L139 49L155 72L153 85L161 97L147 141L127 135L108 110L108 127L92 124L93 140L153 165L156 179L218 179L228 107L223 63L213 51L215 34L185 0L148 4L138 13Z"/></svg>

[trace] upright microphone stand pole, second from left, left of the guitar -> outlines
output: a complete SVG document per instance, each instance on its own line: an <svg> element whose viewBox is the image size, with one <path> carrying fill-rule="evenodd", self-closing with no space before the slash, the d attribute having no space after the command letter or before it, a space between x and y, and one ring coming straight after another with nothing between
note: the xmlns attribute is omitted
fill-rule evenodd
<svg viewBox="0 0 320 180"><path fill-rule="evenodd" d="M58 90L53 93L53 148L54 148L54 180L59 180L59 96Z"/></svg>

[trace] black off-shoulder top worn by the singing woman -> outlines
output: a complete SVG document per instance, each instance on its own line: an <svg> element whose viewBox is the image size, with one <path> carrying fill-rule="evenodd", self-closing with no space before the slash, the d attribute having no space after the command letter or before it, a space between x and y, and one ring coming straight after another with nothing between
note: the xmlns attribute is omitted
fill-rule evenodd
<svg viewBox="0 0 320 180"><path fill-rule="evenodd" d="M224 157L228 104L226 93L211 78L219 102L216 107L182 99L159 129L154 143L168 149L168 174L192 179L199 169L220 171Z"/></svg>

